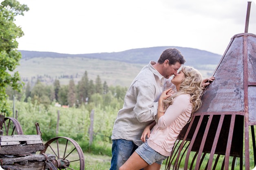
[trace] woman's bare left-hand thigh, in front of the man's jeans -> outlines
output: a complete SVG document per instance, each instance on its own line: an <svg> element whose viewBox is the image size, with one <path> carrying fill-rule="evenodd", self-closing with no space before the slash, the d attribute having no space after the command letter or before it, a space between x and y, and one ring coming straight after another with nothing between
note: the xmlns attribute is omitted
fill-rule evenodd
<svg viewBox="0 0 256 170"><path fill-rule="evenodd" d="M140 170L146 166L148 166L148 163L134 152L119 170Z"/></svg>

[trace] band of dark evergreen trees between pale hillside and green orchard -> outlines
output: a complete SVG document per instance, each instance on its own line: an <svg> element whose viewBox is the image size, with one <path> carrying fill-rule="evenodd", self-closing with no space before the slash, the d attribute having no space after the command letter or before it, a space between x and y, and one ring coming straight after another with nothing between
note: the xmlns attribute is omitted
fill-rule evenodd
<svg viewBox="0 0 256 170"><path fill-rule="evenodd" d="M126 91L127 87L108 86L106 81L102 83L99 75L93 81L88 78L88 73L85 71L77 84L71 79L68 85L61 85L59 79L56 78L52 85L45 85L38 79L33 87L28 82L20 92L9 86L6 94L10 100L13 100L13 96L24 102L31 99L33 103L37 102L46 107L53 102L69 107L79 107L90 102L96 105L110 105L114 98L123 100Z"/></svg>

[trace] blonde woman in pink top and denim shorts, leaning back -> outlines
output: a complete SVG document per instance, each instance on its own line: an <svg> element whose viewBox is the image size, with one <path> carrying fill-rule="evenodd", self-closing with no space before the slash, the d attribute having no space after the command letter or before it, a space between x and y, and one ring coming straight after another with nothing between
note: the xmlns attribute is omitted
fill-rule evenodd
<svg viewBox="0 0 256 170"><path fill-rule="evenodd" d="M119 170L160 170L163 160L170 156L181 129L190 121L192 113L201 107L202 81L196 69L189 66L181 68L171 81L177 93L169 94L171 89L168 89L161 94L157 119L144 129L141 136L145 143ZM149 137L147 141L146 136Z"/></svg>

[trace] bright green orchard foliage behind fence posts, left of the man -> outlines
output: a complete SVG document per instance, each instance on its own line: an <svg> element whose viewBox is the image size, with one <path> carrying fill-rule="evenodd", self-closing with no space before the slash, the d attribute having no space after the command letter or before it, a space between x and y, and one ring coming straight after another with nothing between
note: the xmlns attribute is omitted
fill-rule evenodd
<svg viewBox="0 0 256 170"><path fill-rule="evenodd" d="M99 97L99 94L95 94ZM102 96L101 96L102 98ZM88 129L90 127L90 111L94 109L94 137L97 140L111 142L112 128L117 116L117 112L123 102L114 105L115 107L104 106L102 100L91 102L88 105L81 105L79 108L55 107L54 103L45 107L38 102L32 102L28 98L28 102L16 101L15 109L18 111L18 121L20 122L24 134L36 134L35 122L40 124L44 140L55 137L57 126L57 111L60 111L59 133L58 136L71 137L77 141L88 141ZM117 101L117 100L115 100ZM9 104L11 104L9 100ZM119 107L116 107L119 106Z"/></svg>

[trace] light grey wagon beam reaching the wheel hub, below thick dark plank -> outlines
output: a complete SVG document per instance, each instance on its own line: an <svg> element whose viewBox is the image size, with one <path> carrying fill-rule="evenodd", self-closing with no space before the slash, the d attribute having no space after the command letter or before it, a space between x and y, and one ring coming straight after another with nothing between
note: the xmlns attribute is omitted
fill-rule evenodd
<svg viewBox="0 0 256 170"><path fill-rule="evenodd" d="M46 155L47 155L47 159L49 161L56 159L55 155L51 155L51 154L46 154ZM46 160L45 156L42 154L29 155L29 156L25 156L25 157L4 157L1 159L2 159L2 163L6 164L6 165L13 164L16 162L23 162L23 161L44 161L44 160Z"/></svg>

